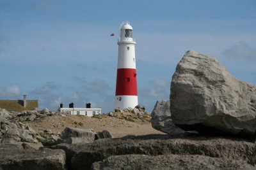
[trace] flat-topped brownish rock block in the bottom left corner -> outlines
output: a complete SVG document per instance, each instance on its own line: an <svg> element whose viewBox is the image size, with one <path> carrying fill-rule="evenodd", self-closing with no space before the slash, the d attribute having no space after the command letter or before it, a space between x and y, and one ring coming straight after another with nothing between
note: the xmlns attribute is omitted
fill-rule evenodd
<svg viewBox="0 0 256 170"><path fill-rule="evenodd" d="M43 148L26 149L22 145L0 144L0 169L65 169L65 152Z"/></svg>

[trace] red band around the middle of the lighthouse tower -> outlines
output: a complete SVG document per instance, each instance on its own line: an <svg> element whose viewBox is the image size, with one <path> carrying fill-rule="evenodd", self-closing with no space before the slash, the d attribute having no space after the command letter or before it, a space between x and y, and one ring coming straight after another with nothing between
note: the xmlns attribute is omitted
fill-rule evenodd
<svg viewBox="0 0 256 170"><path fill-rule="evenodd" d="M117 69L116 96L137 96L136 69Z"/></svg>

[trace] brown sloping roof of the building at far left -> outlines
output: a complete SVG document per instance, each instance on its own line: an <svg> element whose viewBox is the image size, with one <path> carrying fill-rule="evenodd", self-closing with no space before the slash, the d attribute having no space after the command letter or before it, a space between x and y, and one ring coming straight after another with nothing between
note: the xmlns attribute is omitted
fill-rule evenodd
<svg viewBox="0 0 256 170"><path fill-rule="evenodd" d="M23 111L38 108L37 100L26 100L26 102L26 108L23 108L23 100L0 100L0 108L8 111Z"/></svg>

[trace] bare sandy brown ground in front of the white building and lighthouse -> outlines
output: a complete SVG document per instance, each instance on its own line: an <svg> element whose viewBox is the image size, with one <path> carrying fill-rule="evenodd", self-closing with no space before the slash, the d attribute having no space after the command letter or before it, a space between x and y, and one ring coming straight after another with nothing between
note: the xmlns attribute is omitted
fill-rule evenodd
<svg viewBox="0 0 256 170"><path fill-rule="evenodd" d="M65 117L56 115L45 117L34 122L28 122L28 125L35 131L61 132L65 127L76 127L79 129L93 129L95 132L107 130L111 132L113 138L120 138L127 135L145 135L145 134L164 134L153 129L150 122L130 122L124 119L102 116L100 118L67 115Z"/></svg>

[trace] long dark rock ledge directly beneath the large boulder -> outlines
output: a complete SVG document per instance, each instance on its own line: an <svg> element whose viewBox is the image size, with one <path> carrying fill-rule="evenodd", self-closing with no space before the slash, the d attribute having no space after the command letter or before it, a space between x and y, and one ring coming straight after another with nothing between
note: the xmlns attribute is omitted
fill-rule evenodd
<svg viewBox="0 0 256 170"><path fill-rule="evenodd" d="M63 149L67 156L67 166L73 169L89 169L97 162L112 155L145 154L145 155L205 155L221 159L244 160L256 164L256 146L247 141L220 138L173 138L120 140L101 139L86 144L60 144L49 146ZM84 161L86 160L86 161Z"/></svg>

